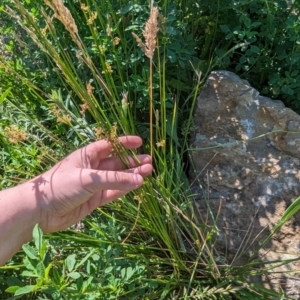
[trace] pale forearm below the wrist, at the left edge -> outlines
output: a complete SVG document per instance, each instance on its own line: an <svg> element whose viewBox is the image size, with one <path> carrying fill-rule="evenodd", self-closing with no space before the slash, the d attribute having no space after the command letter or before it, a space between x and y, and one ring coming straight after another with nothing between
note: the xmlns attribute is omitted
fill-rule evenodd
<svg viewBox="0 0 300 300"><path fill-rule="evenodd" d="M38 223L36 195L29 183L0 192L0 265L32 238Z"/></svg>

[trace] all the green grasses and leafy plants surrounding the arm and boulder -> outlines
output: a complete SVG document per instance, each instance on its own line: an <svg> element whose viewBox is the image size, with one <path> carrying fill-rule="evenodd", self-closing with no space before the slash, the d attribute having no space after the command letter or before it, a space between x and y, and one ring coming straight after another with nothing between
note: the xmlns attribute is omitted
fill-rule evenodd
<svg viewBox="0 0 300 300"><path fill-rule="evenodd" d="M116 135L142 136L155 163L139 191L82 224L46 236L36 227L33 243L0 267L2 298L284 297L250 283L271 271L259 261L232 266L216 253L219 229L192 204L186 149L196 97L213 69L234 71L299 111L299 2L2 3L1 188ZM147 30L149 16L158 32Z"/></svg>

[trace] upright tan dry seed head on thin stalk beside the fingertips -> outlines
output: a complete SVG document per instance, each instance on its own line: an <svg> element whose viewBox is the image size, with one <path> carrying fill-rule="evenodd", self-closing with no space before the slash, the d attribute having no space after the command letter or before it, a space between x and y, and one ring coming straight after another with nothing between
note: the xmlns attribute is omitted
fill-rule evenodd
<svg viewBox="0 0 300 300"><path fill-rule="evenodd" d="M153 6L153 1L151 1L150 17L146 22L145 29L143 30L143 36L145 43L132 32L133 37L136 39L138 46L142 49L145 55L150 60L150 74L149 74L149 99L150 99L150 154L153 155L153 56L156 48L157 33L159 30L158 26L158 8Z"/></svg>

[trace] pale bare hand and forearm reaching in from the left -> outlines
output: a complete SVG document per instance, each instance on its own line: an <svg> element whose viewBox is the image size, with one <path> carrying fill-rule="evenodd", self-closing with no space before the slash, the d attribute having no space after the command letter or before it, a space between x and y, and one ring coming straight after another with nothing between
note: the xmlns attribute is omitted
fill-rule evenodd
<svg viewBox="0 0 300 300"><path fill-rule="evenodd" d="M137 136L119 138L127 149L142 145ZM0 265L32 239L39 224L44 233L64 230L97 207L139 188L152 172L149 155L128 158L124 169L106 140L81 148L45 173L0 192Z"/></svg>

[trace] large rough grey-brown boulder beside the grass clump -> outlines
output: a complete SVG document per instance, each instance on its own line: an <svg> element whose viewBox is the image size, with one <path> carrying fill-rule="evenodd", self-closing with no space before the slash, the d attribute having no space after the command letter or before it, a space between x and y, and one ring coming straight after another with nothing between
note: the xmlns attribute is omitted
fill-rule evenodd
<svg viewBox="0 0 300 300"><path fill-rule="evenodd" d="M201 215L217 219L219 253L229 264L258 250L263 261L298 258L298 213L261 243L300 195L300 116L235 74L215 71L197 99L194 124L191 181ZM287 270L260 280L298 299L300 263L275 269Z"/></svg>

